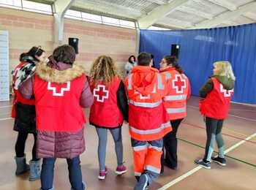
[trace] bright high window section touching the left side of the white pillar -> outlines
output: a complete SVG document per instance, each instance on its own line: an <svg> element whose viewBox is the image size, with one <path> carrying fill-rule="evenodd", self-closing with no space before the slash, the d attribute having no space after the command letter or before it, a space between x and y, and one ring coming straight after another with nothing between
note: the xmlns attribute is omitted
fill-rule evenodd
<svg viewBox="0 0 256 190"><path fill-rule="evenodd" d="M41 4L41 3L23 0L22 5L23 5L23 10L52 15L52 9L50 4Z"/></svg>

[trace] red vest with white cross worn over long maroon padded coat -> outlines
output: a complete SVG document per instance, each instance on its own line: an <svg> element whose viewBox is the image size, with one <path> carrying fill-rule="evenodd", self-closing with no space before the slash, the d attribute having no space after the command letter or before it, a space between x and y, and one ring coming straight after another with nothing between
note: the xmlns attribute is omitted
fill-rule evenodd
<svg viewBox="0 0 256 190"><path fill-rule="evenodd" d="M85 75L63 84L50 83L35 75L37 129L48 132L77 132L86 118L80 107Z"/></svg>

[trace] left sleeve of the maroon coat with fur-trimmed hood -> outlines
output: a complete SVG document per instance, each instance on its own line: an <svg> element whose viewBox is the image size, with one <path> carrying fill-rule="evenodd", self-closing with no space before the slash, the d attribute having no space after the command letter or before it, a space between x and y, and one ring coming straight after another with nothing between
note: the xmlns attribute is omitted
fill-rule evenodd
<svg viewBox="0 0 256 190"><path fill-rule="evenodd" d="M23 96L23 98L32 99L33 85L34 85L34 75L20 84L18 91L20 91L20 94L21 96Z"/></svg>

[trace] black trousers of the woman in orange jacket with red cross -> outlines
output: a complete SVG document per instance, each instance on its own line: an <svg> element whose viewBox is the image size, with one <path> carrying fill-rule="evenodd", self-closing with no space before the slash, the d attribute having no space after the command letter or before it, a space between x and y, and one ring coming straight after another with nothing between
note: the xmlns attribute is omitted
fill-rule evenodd
<svg viewBox="0 0 256 190"><path fill-rule="evenodd" d="M165 164L167 167L172 169L177 167L177 131L178 126L184 118L170 121L173 131L165 134L164 147L165 153L162 154L162 166Z"/></svg>

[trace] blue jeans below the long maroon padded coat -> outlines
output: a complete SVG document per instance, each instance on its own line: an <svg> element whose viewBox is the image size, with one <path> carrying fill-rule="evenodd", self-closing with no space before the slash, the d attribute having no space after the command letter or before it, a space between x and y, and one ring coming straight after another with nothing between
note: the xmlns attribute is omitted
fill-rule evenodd
<svg viewBox="0 0 256 190"><path fill-rule="evenodd" d="M53 172L55 158L47 158L42 160L41 186L42 190L53 188ZM80 167L79 156L73 159L67 159L69 168L69 181L73 190L83 190L85 187L82 182L82 171Z"/></svg>

